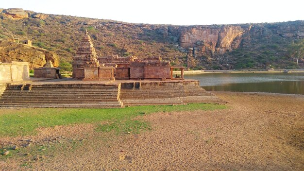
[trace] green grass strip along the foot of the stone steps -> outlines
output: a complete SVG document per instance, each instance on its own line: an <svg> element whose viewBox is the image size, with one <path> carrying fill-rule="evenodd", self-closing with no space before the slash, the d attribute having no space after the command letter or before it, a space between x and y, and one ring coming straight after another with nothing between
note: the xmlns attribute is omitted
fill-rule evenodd
<svg viewBox="0 0 304 171"><path fill-rule="evenodd" d="M108 121L108 126L101 126L101 131L116 130L137 132L139 128L148 129L148 125L141 121L132 120L136 116L155 112L194 111L224 109L225 105L191 103L187 105L156 105L132 106L113 109L74 109L74 108L21 108L1 109L0 137L34 135L35 129L53 127L74 123L98 123ZM120 122L125 126L119 125ZM122 124L123 125L123 124Z"/></svg>

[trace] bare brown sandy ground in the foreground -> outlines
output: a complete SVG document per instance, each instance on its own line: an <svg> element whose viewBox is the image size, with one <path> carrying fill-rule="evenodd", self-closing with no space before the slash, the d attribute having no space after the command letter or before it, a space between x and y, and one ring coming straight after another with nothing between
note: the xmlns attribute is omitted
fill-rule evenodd
<svg viewBox="0 0 304 171"><path fill-rule="evenodd" d="M152 131L96 133L91 124L41 129L36 137L85 138L75 150L33 162L46 171L304 170L304 96L216 93L229 102L216 111L155 113ZM5 139L17 143L18 138ZM0 170L22 161L0 162Z"/></svg>

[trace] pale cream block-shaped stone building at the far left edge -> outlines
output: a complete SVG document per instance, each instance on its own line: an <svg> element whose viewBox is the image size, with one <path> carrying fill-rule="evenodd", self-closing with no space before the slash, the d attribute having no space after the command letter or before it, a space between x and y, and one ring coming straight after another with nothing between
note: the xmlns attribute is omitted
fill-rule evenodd
<svg viewBox="0 0 304 171"><path fill-rule="evenodd" d="M29 79L30 68L28 62L1 62L0 83L23 81Z"/></svg>

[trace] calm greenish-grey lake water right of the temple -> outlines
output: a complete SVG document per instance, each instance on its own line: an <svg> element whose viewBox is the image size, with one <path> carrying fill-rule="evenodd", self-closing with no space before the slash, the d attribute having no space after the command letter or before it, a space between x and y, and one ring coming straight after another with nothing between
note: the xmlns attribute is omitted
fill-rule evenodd
<svg viewBox="0 0 304 171"><path fill-rule="evenodd" d="M205 73L185 75L208 91L304 94L304 73Z"/></svg>

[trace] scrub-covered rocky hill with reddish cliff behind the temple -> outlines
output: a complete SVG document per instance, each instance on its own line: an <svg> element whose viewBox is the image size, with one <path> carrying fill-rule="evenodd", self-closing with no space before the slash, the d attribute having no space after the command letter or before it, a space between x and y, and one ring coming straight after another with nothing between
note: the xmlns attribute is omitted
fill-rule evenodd
<svg viewBox="0 0 304 171"><path fill-rule="evenodd" d="M174 26L0 9L0 39L30 39L57 53L67 70L85 29L100 56L160 56L192 69L304 67L303 59L296 65L286 55L288 44L304 38L304 21Z"/></svg>

